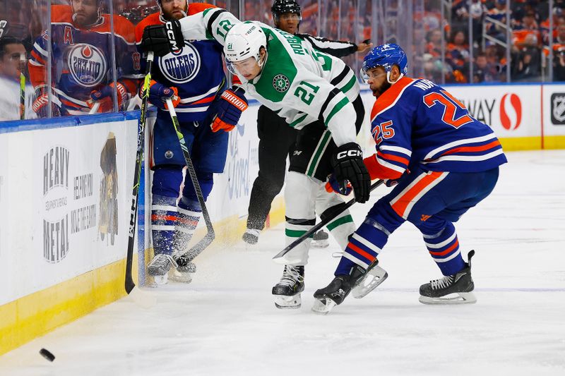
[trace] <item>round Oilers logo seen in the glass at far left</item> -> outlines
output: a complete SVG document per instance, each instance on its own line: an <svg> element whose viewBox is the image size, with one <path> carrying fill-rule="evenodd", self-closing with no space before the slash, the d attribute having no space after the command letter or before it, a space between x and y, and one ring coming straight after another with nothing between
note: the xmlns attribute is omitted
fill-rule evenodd
<svg viewBox="0 0 565 376"><path fill-rule="evenodd" d="M67 63L73 78L86 87L98 85L106 75L106 59L102 51L91 44L75 44Z"/></svg>

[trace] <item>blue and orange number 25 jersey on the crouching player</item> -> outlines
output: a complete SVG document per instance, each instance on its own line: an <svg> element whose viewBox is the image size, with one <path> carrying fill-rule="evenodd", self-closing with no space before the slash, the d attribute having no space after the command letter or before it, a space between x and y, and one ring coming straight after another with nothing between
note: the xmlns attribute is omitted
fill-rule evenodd
<svg viewBox="0 0 565 376"><path fill-rule="evenodd" d="M375 102L371 133L380 178L419 165L428 171L479 172L507 162L492 129L429 80L403 77Z"/></svg>

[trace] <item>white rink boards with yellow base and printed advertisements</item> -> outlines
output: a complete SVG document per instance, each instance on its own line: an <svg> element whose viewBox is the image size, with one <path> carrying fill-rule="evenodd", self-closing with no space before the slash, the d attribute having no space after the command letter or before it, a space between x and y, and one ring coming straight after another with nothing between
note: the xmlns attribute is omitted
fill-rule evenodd
<svg viewBox="0 0 565 376"><path fill-rule="evenodd" d="M565 148L565 85L447 89L490 123L505 150ZM374 99L366 89L362 97L367 111L359 142L369 153ZM208 198L221 244L233 244L244 231L258 171L257 109L251 101L230 133L224 174L215 175ZM137 124L138 112L2 124L0 354L124 296ZM141 284L150 250L147 169L142 181L134 262ZM280 195L270 222L283 219Z"/></svg>

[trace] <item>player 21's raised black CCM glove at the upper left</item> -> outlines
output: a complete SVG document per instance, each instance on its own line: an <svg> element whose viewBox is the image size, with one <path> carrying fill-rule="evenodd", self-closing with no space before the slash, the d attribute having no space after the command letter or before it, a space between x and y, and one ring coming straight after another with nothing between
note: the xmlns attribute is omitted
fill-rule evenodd
<svg viewBox="0 0 565 376"><path fill-rule="evenodd" d="M143 37L139 45L141 51L153 51L156 56L165 56L169 52L184 47L181 23L172 20L164 25L149 25L143 29Z"/></svg>

